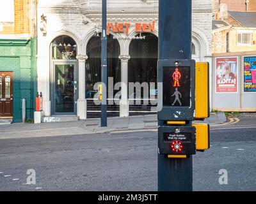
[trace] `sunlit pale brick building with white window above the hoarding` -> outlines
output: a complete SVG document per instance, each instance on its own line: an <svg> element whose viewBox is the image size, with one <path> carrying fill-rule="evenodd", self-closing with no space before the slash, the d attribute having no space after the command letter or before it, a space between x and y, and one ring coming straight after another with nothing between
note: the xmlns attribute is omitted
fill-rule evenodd
<svg viewBox="0 0 256 204"><path fill-rule="evenodd" d="M223 20L212 23L212 53L256 50L256 11L228 11Z"/></svg>

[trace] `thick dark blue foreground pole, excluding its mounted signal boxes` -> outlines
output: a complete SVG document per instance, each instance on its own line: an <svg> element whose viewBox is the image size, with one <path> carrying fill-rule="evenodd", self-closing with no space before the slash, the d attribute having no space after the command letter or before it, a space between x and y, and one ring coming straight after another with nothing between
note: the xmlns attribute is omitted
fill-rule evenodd
<svg viewBox="0 0 256 204"><path fill-rule="evenodd" d="M159 1L159 59L191 59L191 0ZM163 126L164 121L158 121ZM192 156L158 154L158 191L192 191Z"/></svg>

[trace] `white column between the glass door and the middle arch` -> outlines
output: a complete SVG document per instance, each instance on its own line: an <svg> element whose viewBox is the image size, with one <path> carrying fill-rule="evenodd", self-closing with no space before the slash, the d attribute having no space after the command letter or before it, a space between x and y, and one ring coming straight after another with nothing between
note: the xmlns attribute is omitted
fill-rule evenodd
<svg viewBox="0 0 256 204"><path fill-rule="evenodd" d="M86 119L87 104L85 99L85 61L87 55L77 55L78 60L78 100L77 100L77 116L79 119Z"/></svg>

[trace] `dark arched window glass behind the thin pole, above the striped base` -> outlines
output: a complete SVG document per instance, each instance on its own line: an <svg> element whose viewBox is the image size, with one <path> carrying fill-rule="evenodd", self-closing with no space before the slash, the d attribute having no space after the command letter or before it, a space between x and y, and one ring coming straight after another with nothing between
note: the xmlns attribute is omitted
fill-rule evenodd
<svg viewBox="0 0 256 204"><path fill-rule="evenodd" d="M101 34L93 36L86 47L86 98L93 98L97 91L93 86L101 82ZM120 55L120 46L111 34L108 35L108 77L113 77L113 84L121 81L121 63L118 56ZM118 90L114 91L114 94ZM108 96L112 98L112 96Z"/></svg>

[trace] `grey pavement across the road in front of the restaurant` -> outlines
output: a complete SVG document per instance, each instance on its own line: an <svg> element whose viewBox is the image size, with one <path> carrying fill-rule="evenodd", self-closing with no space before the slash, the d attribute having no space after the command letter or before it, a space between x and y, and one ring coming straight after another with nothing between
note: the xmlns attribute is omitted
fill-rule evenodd
<svg viewBox="0 0 256 204"><path fill-rule="evenodd" d="M225 113L211 113L205 122L222 124L226 122ZM157 115L108 118L108 127L100 127L100 119L86 119L73 122L49 122L41 124L14 123L0 126L0 139L30 138L41 136L86 135L92 133L111 133L116 131L136 131L156 129Z"/></svg>

